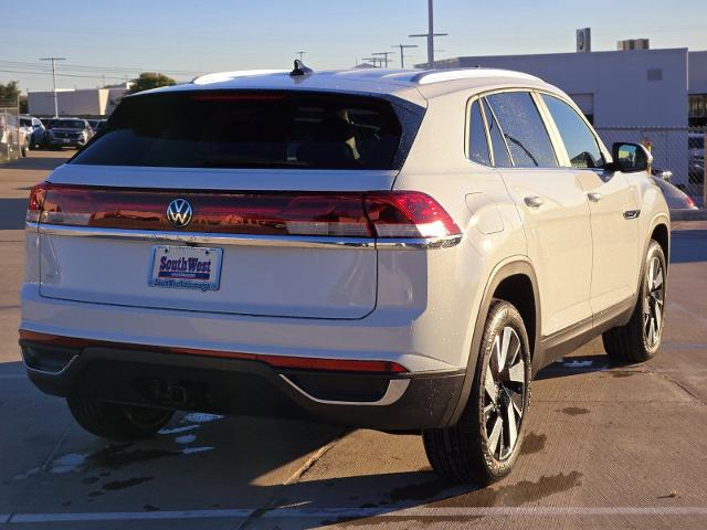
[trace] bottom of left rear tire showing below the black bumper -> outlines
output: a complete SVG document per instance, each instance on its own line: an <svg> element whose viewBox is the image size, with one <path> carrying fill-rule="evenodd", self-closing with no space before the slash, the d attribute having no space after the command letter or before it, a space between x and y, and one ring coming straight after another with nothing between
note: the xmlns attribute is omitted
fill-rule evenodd
<svg viewBox="0 0 707 530"><path fill-rule="evenodd" d="M68 398L74 420L91 434L110 439L144 439L169 423L175 411Z"/></svg>

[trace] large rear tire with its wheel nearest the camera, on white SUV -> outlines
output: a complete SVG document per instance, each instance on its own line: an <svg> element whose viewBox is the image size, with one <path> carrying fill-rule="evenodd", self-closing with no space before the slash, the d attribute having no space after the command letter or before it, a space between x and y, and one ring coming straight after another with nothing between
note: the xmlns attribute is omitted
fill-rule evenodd
<svg viewBox="0 0 707 530"><path fill-rule="evenodd" d="M516 340L519 349L515 354L506 354L507 360L502 361L503 370L499 372L495 367L498 367L498 360L503 356L500 350L496 349L496 340L500 340L499 348L503 349L500 343L504 342L506 328L515 331L515 336L510 335L510 346L506 347L506 350L514 349ZM523 363L520 369L517 368L519 363ZM499 386L494 383L495 378L503 379L504 371L510 373L511 364L516 368L515 377L523 374L523 385L509 381L507 384L511 390L503 386L503 390L498 390ZM498 372L498 375L494 377L494 372ZM479 486L508 475L523 446L525 417L530 404L530 348L523 318L511 304L494 300L486 318L474 383L462 417L451 427L431 428L422 433L425 453L432 468L453 483ZM490 381L490 388L495 389L495 400L492 400L492 394L487 391L487 380ZM513 409L514 403L518 405L516 410ZM508 413L513 415L513 420L518 422L514 423L513 428L509 426L508 416L499 416L499 410L504 407L506 412L510 411ZM517 409L520 410L520 414ZM494 436L498 422L500 422L500 432ZM510 443L514 430L516 437ZM492 444L492 439L496 439L496 444ZM508 447L505 447L504 454L506 442Z"/></svg>

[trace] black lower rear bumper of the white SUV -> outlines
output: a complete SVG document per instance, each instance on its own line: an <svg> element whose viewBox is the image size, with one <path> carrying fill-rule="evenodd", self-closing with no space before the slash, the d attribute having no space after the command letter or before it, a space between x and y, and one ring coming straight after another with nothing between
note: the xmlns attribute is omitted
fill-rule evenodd
<svg viewBox="0 0 707 530"><path fill-rule="evenodd" d="M43 392L176 410L409 431L445 426L464 372L362 373L126 348L20 341Z"/></svg>

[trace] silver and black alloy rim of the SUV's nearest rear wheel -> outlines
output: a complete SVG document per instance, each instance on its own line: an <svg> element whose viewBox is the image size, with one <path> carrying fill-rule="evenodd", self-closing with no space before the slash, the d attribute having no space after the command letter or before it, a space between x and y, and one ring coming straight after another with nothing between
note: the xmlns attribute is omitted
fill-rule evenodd
<svg viewBox="0 0 707 530"><path fill-rule="evenodd" d="M488 452L497 460L513 455L518 441L526 393L523 343L510 326L496 335L484 374L484 425Z"/></svg>

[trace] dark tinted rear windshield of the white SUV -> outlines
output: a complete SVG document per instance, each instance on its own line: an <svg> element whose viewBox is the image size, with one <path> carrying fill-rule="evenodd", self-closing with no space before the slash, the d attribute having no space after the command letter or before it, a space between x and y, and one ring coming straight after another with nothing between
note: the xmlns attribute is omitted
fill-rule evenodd
<svg viewBox="0 0 707 530"><path fill-rule="evenodd" d="M126 98L72 163L399 169L401 126L372 97L182 92Z"/></svg>

